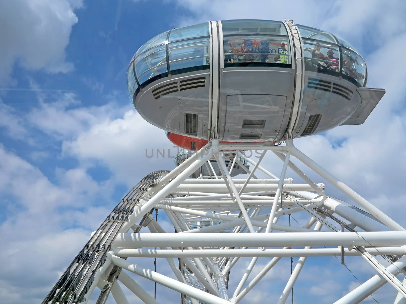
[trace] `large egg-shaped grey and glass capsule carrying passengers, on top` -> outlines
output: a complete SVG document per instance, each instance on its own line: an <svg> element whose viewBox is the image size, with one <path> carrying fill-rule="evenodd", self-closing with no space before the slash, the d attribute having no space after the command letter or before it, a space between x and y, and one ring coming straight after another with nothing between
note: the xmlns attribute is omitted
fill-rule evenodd
<svg viewBox="0 0 406 304"><path fill-rule="evenodd" d="M362 124L385 92L366 88L365 61L347 41L267 20L209 21L159 34L138 49L127 82L151 124L229 142Z"/></svg>

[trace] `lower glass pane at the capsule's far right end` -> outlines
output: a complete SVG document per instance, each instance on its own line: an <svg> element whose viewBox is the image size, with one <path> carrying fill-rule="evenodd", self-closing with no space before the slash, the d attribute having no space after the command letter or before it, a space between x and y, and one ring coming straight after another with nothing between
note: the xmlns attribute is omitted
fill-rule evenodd
<svg viewBox="0 0 406 304"><path fill-rule="evenodd" d="M360 55L349 49L341 48L341 50L343 52L343 69L341 73L364 86L367 77L365 61Z"/></svg>

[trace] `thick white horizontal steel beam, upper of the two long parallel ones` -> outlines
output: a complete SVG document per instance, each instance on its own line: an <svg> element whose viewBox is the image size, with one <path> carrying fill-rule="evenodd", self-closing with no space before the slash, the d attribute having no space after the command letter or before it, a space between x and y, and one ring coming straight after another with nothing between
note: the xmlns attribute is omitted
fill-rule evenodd
<svg viewBox="0 0 406 304"><path fill-rule="evenodd" d="M391 246L406 244L406 231L289 233L118 233L114 247Z"/></svg>

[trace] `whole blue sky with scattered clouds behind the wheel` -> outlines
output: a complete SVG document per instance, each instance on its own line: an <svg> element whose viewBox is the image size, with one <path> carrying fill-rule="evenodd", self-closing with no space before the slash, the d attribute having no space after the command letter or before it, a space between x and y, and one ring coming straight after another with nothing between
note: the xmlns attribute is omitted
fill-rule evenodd
<svg viewBox="0 0 406 304"><path fill-rule="evenodd" d="M402 56L395 55L406 47L404 11L401 0L276 6L265 0L1 2L0 257L8 262L0 270L1 302L42 301L128 188L151 171L174 167L173 158L145 157L145 149L172 145L133 109L125 73L151 37L207 20L289 17L339 34L363 54L368 86L387 90L367 122L296 145L405 225L405 72L397 62ZM264 161L275 173L281 168L274 158ZM339 196L328 185L327 192ZM295 303L313 303L320 296L322 303L331 303L356 285L332 259L309 259ZM374 274L357 260L349 258L348 265L361 281ZM274 284L287 279L283 267L289 268L289 261L274 271L281 272ZM334 286L333 292L326 286ZM252 292L268 298L278 293L266 284ZM173 293L161 289L161 300L168 295ZM391 287L376 294L379 303L392 303L394 297Z"/></svg>

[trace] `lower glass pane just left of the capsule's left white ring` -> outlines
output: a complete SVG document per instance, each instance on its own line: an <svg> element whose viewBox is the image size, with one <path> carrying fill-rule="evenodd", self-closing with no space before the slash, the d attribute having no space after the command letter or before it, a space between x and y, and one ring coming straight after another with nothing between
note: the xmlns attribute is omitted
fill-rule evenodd
<svg viewBox="0 0 406 304"><path fill-rule="evenodd" d="M168 51L169 69L173 71L209 64L209 50L209 37L171 42Z"/></svg>

